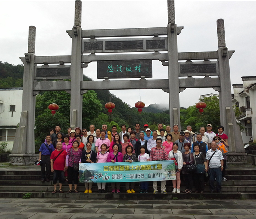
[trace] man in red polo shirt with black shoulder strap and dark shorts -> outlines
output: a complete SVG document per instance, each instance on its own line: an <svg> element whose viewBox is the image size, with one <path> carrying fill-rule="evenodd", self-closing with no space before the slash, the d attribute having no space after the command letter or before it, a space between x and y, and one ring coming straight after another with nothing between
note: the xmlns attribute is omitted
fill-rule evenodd
<svg viewBox="0 0 256 219"><path fill-rule="evenodd" d="M56 150L51 154L51 171L53 172L53 185L54 190L52 193L57 192L57 181L59 180L60 189L59 192L63 193L62 184L64 183L64 171L67 170L66 166L67 151L62 149L62 143L58 142Z"/></svg>

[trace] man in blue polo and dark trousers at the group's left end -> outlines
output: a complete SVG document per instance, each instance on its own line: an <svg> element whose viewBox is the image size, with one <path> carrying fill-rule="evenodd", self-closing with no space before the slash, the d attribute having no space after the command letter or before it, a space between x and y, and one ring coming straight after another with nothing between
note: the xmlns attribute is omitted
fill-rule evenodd
<svg viewBox="0 0 256 219"><path fill-rule="evenodd" d="M44 183L46 180L47 182L50 181L50 172L51 172L51 164L50 164L50 155L54 151L53 145L51 142L51 136L46 135L46 143L42 143L39 149L39 158L38 161L42 160L41 164L41 181ZM46 168L46 173L45 173Z"/></svg>

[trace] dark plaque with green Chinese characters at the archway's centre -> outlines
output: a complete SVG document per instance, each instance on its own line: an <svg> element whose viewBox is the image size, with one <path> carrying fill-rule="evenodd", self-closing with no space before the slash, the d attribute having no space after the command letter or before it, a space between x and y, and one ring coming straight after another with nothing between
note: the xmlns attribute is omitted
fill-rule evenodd
<svg viewBox="0 0 256 219"><path fill-rule="evenodd" d="M152 77L152 60L98 61L97 78Z"/></svg>

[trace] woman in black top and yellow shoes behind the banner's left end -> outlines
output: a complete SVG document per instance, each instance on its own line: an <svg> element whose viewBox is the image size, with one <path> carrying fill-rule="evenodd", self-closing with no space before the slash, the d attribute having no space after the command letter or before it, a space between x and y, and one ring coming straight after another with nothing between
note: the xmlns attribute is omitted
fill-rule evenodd
<svg viewBox="0 0 256 219"><path fill-rule="evenodd" d="M86 150L83 150L83 153L82 153L81 162L93 164L93 163L96 163L96 161L97 161L97 157L96 157L95 152L93 150L91 150L91 143L87 142ZM91 191L91 188L93 187L92 182L91 183L85 182L84 186L85 186L84 193L92 193L92 191Z"/></svg>

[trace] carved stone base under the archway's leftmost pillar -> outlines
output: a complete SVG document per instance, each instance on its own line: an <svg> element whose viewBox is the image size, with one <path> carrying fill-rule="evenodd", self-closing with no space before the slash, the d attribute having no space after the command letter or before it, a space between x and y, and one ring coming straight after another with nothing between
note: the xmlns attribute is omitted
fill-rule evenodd
<svg viewBox="0 0 256 219"><path fill-rule="evenodd" d="M16 166L34 164L39 158L39 154L10 154L10 163Z"/></svg>

